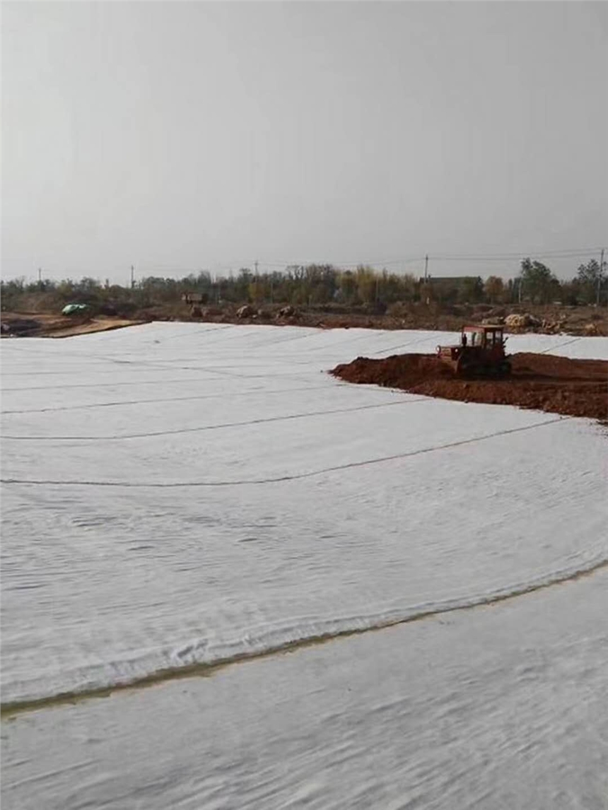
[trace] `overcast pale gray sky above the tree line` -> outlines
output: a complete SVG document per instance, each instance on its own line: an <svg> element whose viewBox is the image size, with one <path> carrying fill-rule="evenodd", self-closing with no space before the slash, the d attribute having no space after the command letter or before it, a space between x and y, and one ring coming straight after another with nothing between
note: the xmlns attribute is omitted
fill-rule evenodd
<svg viewBox="0 0 608 810"><path fill-rule="evenodd" d="M604 2L2 4L4 277L571 275L607 145Z"/></svg>

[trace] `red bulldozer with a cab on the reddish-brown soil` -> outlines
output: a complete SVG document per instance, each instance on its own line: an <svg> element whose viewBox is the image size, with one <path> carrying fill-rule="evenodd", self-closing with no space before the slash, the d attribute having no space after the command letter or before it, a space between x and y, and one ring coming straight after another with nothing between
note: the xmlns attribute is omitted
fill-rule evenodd
<svg viewBox="0 0 608 810"><path fill-rule="evenodd" d="M477 324L463 326L457 346L438 346L437 356L459 377L505 377L511 363L504 351L503 326Z"/></svg>

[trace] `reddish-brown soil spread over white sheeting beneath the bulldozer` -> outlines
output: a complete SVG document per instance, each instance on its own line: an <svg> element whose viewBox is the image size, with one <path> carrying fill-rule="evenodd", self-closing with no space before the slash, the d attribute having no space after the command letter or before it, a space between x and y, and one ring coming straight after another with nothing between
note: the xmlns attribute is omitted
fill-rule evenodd
<svg viewBox="0 0 608 810"><path fill-rule="evenodd" d="M538 411L608 420L608 361L569 360L522 352L509 358L511 377L458 379L435 355L358 357L331 373L347 382L373 383L462 402L518 405Z"/></svg>

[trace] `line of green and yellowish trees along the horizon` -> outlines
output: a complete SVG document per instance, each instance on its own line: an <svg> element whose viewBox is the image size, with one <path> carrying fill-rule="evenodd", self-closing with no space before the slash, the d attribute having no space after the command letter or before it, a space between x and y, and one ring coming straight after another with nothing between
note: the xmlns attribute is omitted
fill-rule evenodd
<svg viewBox="0 0 608 810"><path fill-rule="evenodd" d="M516 303L606 305L606 262L596 259L581 264L572 279L557 279L542 262L525 258L515 279L489 275L457 278L416 278L413 275L377 271L370 266L341 270L331 264L288 266L285 271L255 273L243 267L235 275L213 278L208 271L182 279L148 276L131 287L101 283L83 277L79 281L42 279L2 280L2 309L54 311L67 303L87 303L99 311L129 314L137 309L180 301L186 292L198 292L203 303L224 305L290 304L294 306L385 308L396 302L438 301L442 304L512 305ZM32 305L33 302L33 305Z"/></svg>

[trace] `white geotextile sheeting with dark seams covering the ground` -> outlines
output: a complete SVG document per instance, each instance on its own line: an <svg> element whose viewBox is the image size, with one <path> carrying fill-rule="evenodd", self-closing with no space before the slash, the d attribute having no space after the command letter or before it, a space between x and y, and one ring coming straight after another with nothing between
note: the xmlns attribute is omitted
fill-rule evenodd
<svg viewBox="0 0 608 810"><path fill-rule="evenodd" d="M605 429L328 374L457 338L2 342L3 810L606 807Z"/></svg>

